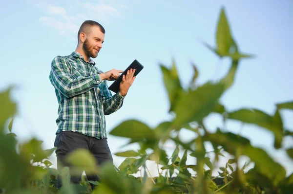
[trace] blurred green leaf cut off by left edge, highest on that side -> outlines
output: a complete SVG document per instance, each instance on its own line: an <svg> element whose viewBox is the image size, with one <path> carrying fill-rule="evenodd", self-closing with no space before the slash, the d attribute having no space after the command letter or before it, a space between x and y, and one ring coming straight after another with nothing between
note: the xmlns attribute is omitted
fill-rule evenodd
<svg viewBox="0 0 293 194"><path fill-rule="evenodd" d="M0 93L0 132L4 127L7 119L16 113L16 104L10 100L12 87L7 88Z"/></svg>

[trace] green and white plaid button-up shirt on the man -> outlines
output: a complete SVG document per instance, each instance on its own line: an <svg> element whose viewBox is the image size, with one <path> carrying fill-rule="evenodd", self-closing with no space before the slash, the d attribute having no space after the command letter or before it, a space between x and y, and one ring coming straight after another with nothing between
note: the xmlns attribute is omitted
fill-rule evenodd
<svg viewBox="0 0 293 194"><path fill-rule="evenodd" d="M125 97L119 92L112 96L100 73L93 60L86 62L77 52L53 59L49 79L59 103L56 134L71 130L107 138L105 115L121 108Z"/></svg>

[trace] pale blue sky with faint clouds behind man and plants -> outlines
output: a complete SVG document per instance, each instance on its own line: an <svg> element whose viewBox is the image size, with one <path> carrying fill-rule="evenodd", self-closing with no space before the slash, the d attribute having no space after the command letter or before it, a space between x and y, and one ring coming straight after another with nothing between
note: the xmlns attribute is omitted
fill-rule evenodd
<svg viewBox="0 0 293 194"><path fill-rule="evenodd" d="M275 103L293 100L290 0L13 0L0 2L0 89L10 84L19 86L13 92L19 105L13 131L20 141L37 137L44 141L44 148L54 146L58 103L49 82L50 63L56 55L75 50L77 31L85 19L96 20L105 27L103 49L94 59L99 69L124 70L134 59L145 66L124 106L106 116L108 132L127 119L138 119L151 127L170 119L159 63L169 66L173 57L185 86L192 76L190 61L197 65L200 84L224 76L229 60L219 61L201 43L204 40L215 45L221 6L226 9L240 51L256 55L240 62L235 83L221 101L228 110L254 107L272 114ZM285 126L293 130L293 113L282 111L282 116ZM205 122L210 131L222 124L217 115L210 115ZM293 172L293 162L284 149L273 148L271 132L249 124L227 123L228 131L238 133L240 129L253 145L264 148L279 161L287 174ZM188 131L182 131L181 137L191 138ZM137 148L132 145L120 149L126 141L109 136L112 153ZM292 138L284 139L283 145L293 146ZM167 143L168 154L173 146ZM113 158L117 166L124 160ZM50 159L55 163L55 154ZM151 170L153 175L155 172Z"/></svg>

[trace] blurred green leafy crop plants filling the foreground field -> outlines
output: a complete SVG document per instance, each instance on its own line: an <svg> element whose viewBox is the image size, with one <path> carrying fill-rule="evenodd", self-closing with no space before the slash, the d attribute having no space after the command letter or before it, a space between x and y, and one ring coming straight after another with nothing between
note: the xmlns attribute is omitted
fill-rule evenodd
<svg viewBox="0 0 293 194"><path fill-rule="evenodd" d="M228 57L231 61L230 70L226 76L217 82L208 81L198 85L198 71L194 67L194 76L190 84L183 88L178 77L176 64L168 68L161 66L164 84L170 104L169 113L174 114L171 121L163 121L155 128L136 120L128 120L117 125L110 134L129 139L129 143L138 143L138 151L128 150L115 153L126 157L118 168L111 165L96 166L92 156L85 150L77 150L68 156L68 162L75 169L99 173L102 182L91 182L98 185L91 191L85 176L79 186L69 182L69 169L64 167L58 172L50 168L52 163L48 157L54 154L54 148L42 149L42 141L32 139L19 144L13 133L13 116L17 105L11 101L10 92L13 88L0 93L0 193L11 194L291 194L293 191L293 174L286 177L283 166L274 161L261 148L254 147L250 141L239 134L226 132L217 128L215 133L204 125L203 120L215 113L223 121L240 121L259 126L274 134L274 147L282 148L285 136L293 136L293 132L284 129L281 111L293 110L293 101L275 104L275 112L270 115L259 109L242 108L229 112L219 101L221 96L233 85L240 60L253 55L242 53L236 40L230 33L228 19L224 8L221 9L216 27L216 48L204 43L211 52L219 58ZM9 129L9 133L5 133ZM182 129L194 133L192 141L184 142L178 132ZM168 156L163 145L166 141L176 144L171 156ZM214 160L209 158L205 143L213 146ZM179 157L183 150L183 157ZM218 166L223 152L232 157L224 166ZM293 148L287 149L287 154L293 159ZM239 158L247 156L254 164L248 171L247 165L240 166ZM187 158L193 159L193 164L186 164ZM157 164L158 177L149 177L146 161ZM292 160L293 161L293 160ZM206 166L209 168L207 170ZM212 176L215 168L219 176ZM70 169L74 171L75 169ZM133 176L141 172L139 177ZM191 172L194 172L191 174ZM56 177L63 178L63 187L56 189Z"/></svg>

